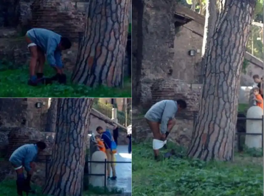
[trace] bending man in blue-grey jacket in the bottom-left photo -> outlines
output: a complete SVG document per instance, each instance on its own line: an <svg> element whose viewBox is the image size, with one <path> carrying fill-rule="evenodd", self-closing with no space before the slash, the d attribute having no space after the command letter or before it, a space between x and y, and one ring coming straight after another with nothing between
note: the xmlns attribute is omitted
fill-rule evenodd
<svg viewBox="0 0 264 196"><path fill-rule="evenodd" d="M19 196L22 196L22 191L31 191L30 180L34 172L35 164L32 163L37 158L39 152L46 148L46 144L42 141L36 144L25 144L16 149L9 158L9 162L14 167L17 173L17 192ZM27 172L27 178L25 179L23 173L23 167Z"/></svg>

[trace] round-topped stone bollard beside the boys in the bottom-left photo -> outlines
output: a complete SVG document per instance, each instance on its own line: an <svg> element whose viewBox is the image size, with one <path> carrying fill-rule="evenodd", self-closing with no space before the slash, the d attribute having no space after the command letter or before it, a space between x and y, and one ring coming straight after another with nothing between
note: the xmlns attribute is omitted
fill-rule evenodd
<svg viewBox="0 0 264 196"><path fill-rule="evenodd" d="M106 154L103 151L95 151L92 155L91 161L102 161L103 163L91 163L90 174L104 174L104 175L91 175L90 184L92 186L104 187L106 181L105 173L105 159L107 159Z"/></svg>

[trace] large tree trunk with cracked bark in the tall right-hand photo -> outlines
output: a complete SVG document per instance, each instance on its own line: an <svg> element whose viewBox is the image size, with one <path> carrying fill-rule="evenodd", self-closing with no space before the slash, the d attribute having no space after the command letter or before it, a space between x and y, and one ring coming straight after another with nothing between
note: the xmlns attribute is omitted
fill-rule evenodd
<svg viewBox="0 0 264 196"><path fill-rule="evenodd" d="M215 19L213 33L210 30L207 34L210 48L202 62L205 75L187 153L190 157L206 161L233 159L240 74L255 5L255 0L226 0Z"/></svg>

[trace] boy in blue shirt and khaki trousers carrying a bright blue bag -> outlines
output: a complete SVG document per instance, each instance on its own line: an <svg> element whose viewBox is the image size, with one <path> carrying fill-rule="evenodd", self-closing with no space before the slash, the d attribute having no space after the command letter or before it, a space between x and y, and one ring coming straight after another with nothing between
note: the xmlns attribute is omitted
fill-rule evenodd
<svg viewBox="0 0 264 196"><path fill-rule="evenodd" d="M101 139L104 141L107 161L114 162L115 161L114 153L111 151L111 143L112 143L112 141L114 141L113 136L111 135L110 131L104 131L104 129L100 126L96 128L96 131L98 134L101 134ZM112 174L113 175L110 178L111 168L112 168ZM114 163L107 163L107 179L111 179L111 180L117 179Z"/></svg>

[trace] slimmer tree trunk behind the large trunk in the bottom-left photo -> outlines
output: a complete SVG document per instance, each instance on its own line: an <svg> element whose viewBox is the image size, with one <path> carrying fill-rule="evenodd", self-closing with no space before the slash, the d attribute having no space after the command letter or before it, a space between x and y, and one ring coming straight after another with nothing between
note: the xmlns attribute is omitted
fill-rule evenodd
<svg viewBox="0 0 264 196"><path fill-rule="evenodd" d="M55 132L56 131L56 121L57 121L57 105L58 105L58 98L49 98L50 100L50 107L48 109L47 115L47 123L46 123L46 132Z"/></svg>

